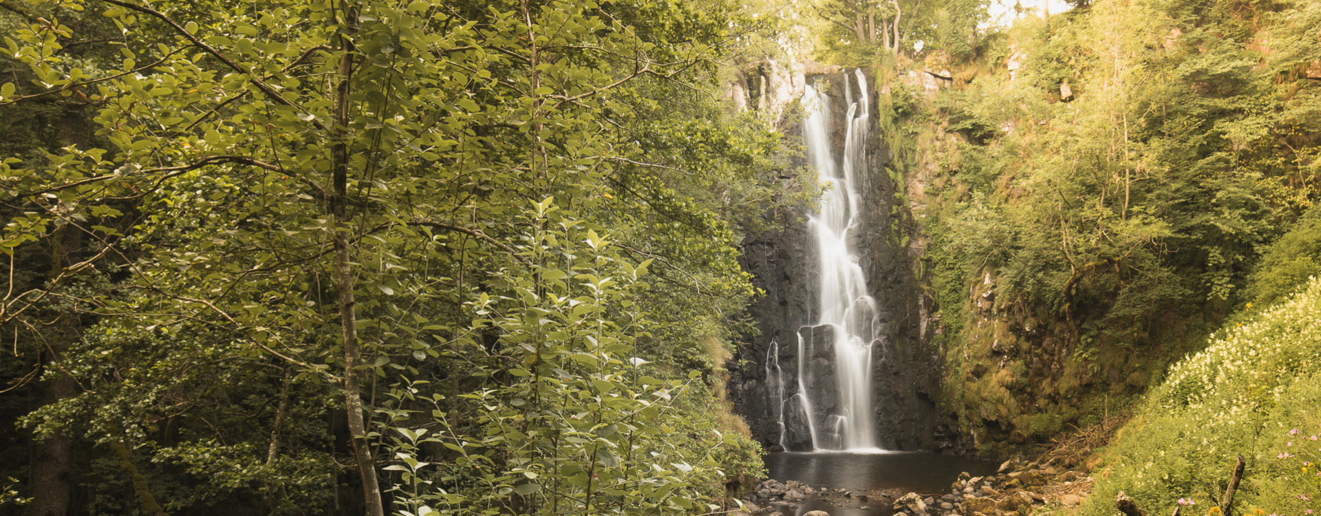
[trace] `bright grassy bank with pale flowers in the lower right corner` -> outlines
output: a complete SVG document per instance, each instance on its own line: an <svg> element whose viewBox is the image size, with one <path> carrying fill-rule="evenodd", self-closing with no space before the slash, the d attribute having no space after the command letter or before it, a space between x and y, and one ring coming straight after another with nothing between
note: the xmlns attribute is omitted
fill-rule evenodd
<svg viewBox="0 0 1321 516"><path fill-rule="evenodd" d="M1106 451L1086 515L1111 513L1124 491L1148 511L1188 498L1214 505L1238 454L1247 474L1235 512L1317 509L1316 467L1291 455L1316 455L1321 430L1321 281L1275 307L1246 317L1206 350L1176 364ZM1301 432L1291 432L1301 429Z"/></svg>

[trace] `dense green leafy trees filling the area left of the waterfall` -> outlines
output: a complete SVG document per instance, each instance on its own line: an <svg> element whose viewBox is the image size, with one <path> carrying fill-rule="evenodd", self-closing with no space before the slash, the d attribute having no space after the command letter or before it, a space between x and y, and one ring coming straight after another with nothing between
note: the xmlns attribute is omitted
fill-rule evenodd
<svg viewBox="0 0 1321 516"><path fill-rule="evenodd" d="M717 351L753 296L738 224L798 193L709 95L732 5L50 8L119 36L100 66L75 16L5 41L34 81L0 108L82 95L95 137L0 165L0 249L82 239L0 322L25 350L38 310L82 322L45 368L82 388L22 424L129 451L89 461L90 513L332 512L357 462L413 513L705 512L727 462L757 474Z"/></svg>

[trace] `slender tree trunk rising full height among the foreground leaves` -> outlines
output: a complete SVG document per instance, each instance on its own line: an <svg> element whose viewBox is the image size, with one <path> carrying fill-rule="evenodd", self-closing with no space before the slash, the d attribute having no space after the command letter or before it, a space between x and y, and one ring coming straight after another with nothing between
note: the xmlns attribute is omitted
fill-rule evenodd
<svg viewBox="0 0 1321 516"><path fill-rule="evenodd" d="M345 8L345 25L357 24L358 13L353 5ZM343 347L343 399L349 418L349 434L353 442L353 458L362 475L362 495L369 516L384 516L380 499L380 484L376 482L376 462L371 457L371 443L367 442L367 424L362 416L362 392L358 381L358 366L362 363L362 350L358 348L358 321L354 306L353 288L357 276L350 269L349 256L349 79L353 74L353 42L347 37L339 40L339 69L336 73L334 127L332 129L332 168L334 198L332 199L330 231L334 234L334 272L339 290L339 326Z"/></svg>

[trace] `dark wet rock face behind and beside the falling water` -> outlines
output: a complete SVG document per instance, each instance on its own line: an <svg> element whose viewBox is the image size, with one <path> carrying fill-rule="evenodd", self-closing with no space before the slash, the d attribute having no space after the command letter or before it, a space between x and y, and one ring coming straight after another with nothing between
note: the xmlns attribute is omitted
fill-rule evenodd
<svg viewBox="0 0 1321 516"><path fill-rule="evenodd" d="M852 73L849 70L848 73ZM832 141L843 146L844 124L848 106L844 106L843 74L810 78L818 87L830 84L828 91L836 100L831 103L831 117L835 120ZM884 84L869 81L872 90ZM856 82L852 87L857 87ZM856 96L856 95L855 95ZM876 106L876 95L872 95ZM908 214L908 206L896 197L896 185L886 172L890 165L890 150L885 145L886 135L875 127L876 113L872 113L873 129L867 148L867 173L863 179L863 201L867 211L861 230L855 230L855 249L859 265L867 273L868 288L878 305L878 338L873 342L873 383L872 399L876 418L877 439L885 449L894 450L938 450L938 414L934 399L939 392L939 355L927 346L930 335L923 335L927 327L919 309L923 300L913 271L918 256L911 256L909 247L901 242L913 231L914 224ZM790 137L801 139L801 129L793 127L785 131ZM814 178L791 178L786 181L814 181ZM898 206L892 214L892 206ZM798 393L799 359L811 360L812 371L802 379L808 384L814 399L812 417L818 425L824 425L831 413L836 413L836 379L834 377L832 335L828 327L807 326L816 322L819 301L815 277L818 272L815 239L806 222L806 207L779 210L768 216L783 230L750 235L742 244L744 269L754 276L754 285L766 296L750 307L756 321L756 331L744 337L734 360L731 362L731 397L736 410L748 421L753 435L764 445L778 445L781 439L779 414L785 414L786 433L783 445L789 450L811 447L806 418ZM807 327L804 327L807 326ZM934 326L934 325L933 325ZM799 335L804 338L803 356L799 356ZM778 368L777 368L778 366ZM781 381L783 379L783 381ZM824 388L812 388L824 387ZM785 403L775 403L778 393Z"/></svg>

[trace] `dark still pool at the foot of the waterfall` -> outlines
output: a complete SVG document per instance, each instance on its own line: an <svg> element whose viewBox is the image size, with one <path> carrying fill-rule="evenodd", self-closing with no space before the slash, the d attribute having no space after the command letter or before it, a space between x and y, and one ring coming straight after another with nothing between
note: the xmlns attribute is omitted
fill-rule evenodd
<svg viewBox="0 0 1321 516"><path fill-rule="evenodd" d="M959 478L960 471L982 476L993 474L997 466L993 462L923 451L785 451L766 455L766 470L775 480L844 488L859 495L877 490L943 495L950 491L950 484ZM831 516L881 516L893 512L889 503L823 499L808 499L797 511L782 511L786 515L801 515L814 509L827 511Z"/></svg>

